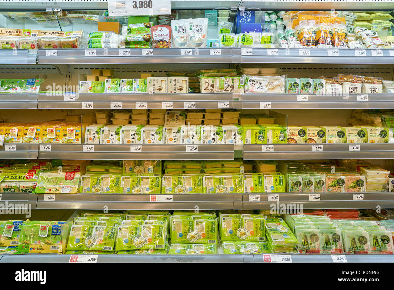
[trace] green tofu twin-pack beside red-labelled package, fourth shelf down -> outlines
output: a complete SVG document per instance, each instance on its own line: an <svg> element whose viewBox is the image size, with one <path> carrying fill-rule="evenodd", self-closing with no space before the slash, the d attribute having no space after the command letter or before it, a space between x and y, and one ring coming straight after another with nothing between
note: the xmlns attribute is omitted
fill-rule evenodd
<svg viewBox="0 0 394 290"><path fill-rule="evenodd" d="M82 175L80 193L119 193L120 175Z"/></svg>

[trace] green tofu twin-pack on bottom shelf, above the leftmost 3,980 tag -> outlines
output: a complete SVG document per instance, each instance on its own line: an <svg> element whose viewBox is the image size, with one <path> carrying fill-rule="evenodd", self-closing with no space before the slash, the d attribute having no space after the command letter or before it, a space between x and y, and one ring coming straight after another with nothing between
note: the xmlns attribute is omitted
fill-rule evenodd
<svg viewBox="0 0 394 290"><path fill-rule="evenodd" d="M67 250L113 251L116 227L72 225Z"/></svg>

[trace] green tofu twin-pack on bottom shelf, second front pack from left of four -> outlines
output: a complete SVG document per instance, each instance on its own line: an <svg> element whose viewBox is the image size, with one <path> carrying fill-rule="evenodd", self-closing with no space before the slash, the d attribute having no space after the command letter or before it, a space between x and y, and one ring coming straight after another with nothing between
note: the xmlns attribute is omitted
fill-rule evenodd
<svg viewBox="0 0 394 290"><path fill-rule="evenodd" d="M144 221L143 225L119 226L116 251L164 249L167 221Z"/></svg>

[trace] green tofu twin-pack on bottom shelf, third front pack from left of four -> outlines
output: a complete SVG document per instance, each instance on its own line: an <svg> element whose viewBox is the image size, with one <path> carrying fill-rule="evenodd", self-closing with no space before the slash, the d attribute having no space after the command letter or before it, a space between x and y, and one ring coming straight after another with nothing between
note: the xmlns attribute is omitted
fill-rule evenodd
<svg viewBox="0 0 394 290"><path fill-rule="evenodd" d="M170 227L173 243L217 244L217 219L173 218Z"/></svg>

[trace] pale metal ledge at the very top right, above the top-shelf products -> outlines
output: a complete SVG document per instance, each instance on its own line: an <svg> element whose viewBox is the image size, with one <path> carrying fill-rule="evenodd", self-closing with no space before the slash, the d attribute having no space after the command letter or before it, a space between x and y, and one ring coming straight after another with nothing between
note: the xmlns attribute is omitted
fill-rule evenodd
<svg viewBox="0 0 394 290"><path fill-rule="evenodd" d="M247 0L242 1L240 6L244 6L245 9L259 8L268 11L330 11L331 9L347 11L352 6L356 6L358 11L392 11L392 2L389 0L374 0L374 2L368 0L348 0L341 2L335 0Z"/></svg>

